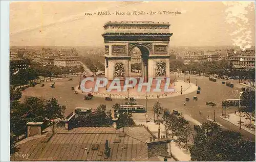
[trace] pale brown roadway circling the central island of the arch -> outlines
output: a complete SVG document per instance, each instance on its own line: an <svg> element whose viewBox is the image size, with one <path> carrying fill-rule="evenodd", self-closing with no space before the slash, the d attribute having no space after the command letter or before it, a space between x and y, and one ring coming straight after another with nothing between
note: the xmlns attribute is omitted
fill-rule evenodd
<svg viewBox="0 0 256 162"><path fill-rule="evenodd" d="M170 74L170 77L175 77L174 74ZM79 84L80 77L73 77L73 80L66 79L60 79L55 80L52 82L45 83L44 87L40 87L40 85L36 85L35 87L29 87L25 91L23 91L22 101L24 101L26 96L36 96L38 98L43 99L50 99L52 97L56 98L61 105L66 105L67 110L65 112L65 115L69 115L71 112L74 111L75 107L88 107L92 109L96 109L96 107L100 104L105 104L108 108L108 110L112 109L112 106L115 103L122 104L124 103L124 98L114 98L112 101L106 101L103 96L98 97L97 94L94 94L94 97L92 100L84 100L84 96L87 95L87 93L79 92L78 94L75 94L75 91L72 91L71 87L74 87L77 89ZM197 94L195 90L195 84L197 79L197 86L201 87L201 94ZM195 76L190 75L190 84L182 82L182 78L178 78L177 85L175 87L178 87L176 92L172 94L172 97L162 97L156 98L152 96L151 99L147 99L147 114L148 114L148 120L154 121L154 113L152 111L152 108L154 106L154 103L156 101L159 101L161 105L170 110L177 110L180 113L182 113L184 116L188 116L191 121L196 120L197 122L203 123L207 122L207 117L209 116L210 119L214 119L214 112L215 112L215 118L216 122L223 125L225 128L233 129L236 131L241 132L245 137L248 139L254 139L254 136L252 134L248 133L244 130L239 130L237 126L234 126L233 124L229 123L228 121L225 121L220 118L222 115L222 100L224 99L238 99L239 93L237 90L241 90L241 85L239 85L236 82L234 83L234 88L227 87L226 85L222 85L222 80L218 79L217 82L211 82L208 80L208 77L204 76ZM51 88L51 84L55 83L55 88ZM184 90L181 93L179 92L179 86L178 84L187 84L187 89ZM190 88L189 88L190 85ZM184 85L183 85L184 86ZM184 86L185 87L185 86ZM192 87L192 88L191 88ZM194 87L194 88L193 88ZM167 94L170 96L170 94ZM197 96L198 100L193 100L193 97ZM106 95L106 97L109 97ZM131 96L132 97L132 96ZM149 97L149 96L148 96ZM190 100L188 102L185 101L185 98L189 98ZM212 101L216 103L217 105L207 106L206 102ZM137 104L146 105L146 100L144 98L136 99ZM184 105L184 102L186 102L186 105ZM230 107L228 109L228 112L231 114L234 111L237 110L237 107ZM201 111L201 115L199 114L199 111ZM134 120L136 123L146 123L145 120L145 114L134 114L133 115ZM194 123L197 123L194 122Z"/></svg>

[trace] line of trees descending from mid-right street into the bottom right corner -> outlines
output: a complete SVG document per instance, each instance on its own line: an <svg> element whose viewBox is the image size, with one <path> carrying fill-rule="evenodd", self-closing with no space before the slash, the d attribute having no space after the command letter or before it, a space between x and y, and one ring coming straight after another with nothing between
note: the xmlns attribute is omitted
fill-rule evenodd
<svg viewBox="0 0 256 162"><path fill-rule="evenodd" d="M165 123L170 136L189 148L193 161L251 161L255 159L255 143L245 141L239 132L226 130L214 122L194 125L194 130L182 115L170 113L157 101L153 106L158 123ZM159 120L162 115L163 120ZM191 140L193 144L188 146Z"/></svg>

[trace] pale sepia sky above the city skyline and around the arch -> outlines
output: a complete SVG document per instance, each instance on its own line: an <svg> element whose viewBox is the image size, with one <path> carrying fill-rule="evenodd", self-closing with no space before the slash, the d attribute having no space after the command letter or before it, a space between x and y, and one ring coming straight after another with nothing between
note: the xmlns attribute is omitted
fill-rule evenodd
<svg viewBox="0 0 256 162"><path fill-rule="evenodd" d="M13 2L10 46L103 46L108 21L169 22L170 46L255 44L254 2ZM111 15L84 15L110 11ZM115 15L115 12L181 12Z"/></svg>

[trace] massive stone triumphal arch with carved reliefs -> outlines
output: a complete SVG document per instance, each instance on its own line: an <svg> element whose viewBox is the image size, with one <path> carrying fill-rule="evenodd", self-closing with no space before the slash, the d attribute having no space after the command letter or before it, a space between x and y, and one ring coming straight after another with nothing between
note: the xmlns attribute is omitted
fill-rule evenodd
<svg viewBox="0 0 256 162"><path fill-rule="evenodd" d="M152 21L107 22L102 37L105 43L105 77L131 77L131 51L141 51L142 76L169 77L169 23Z"/></svg>

